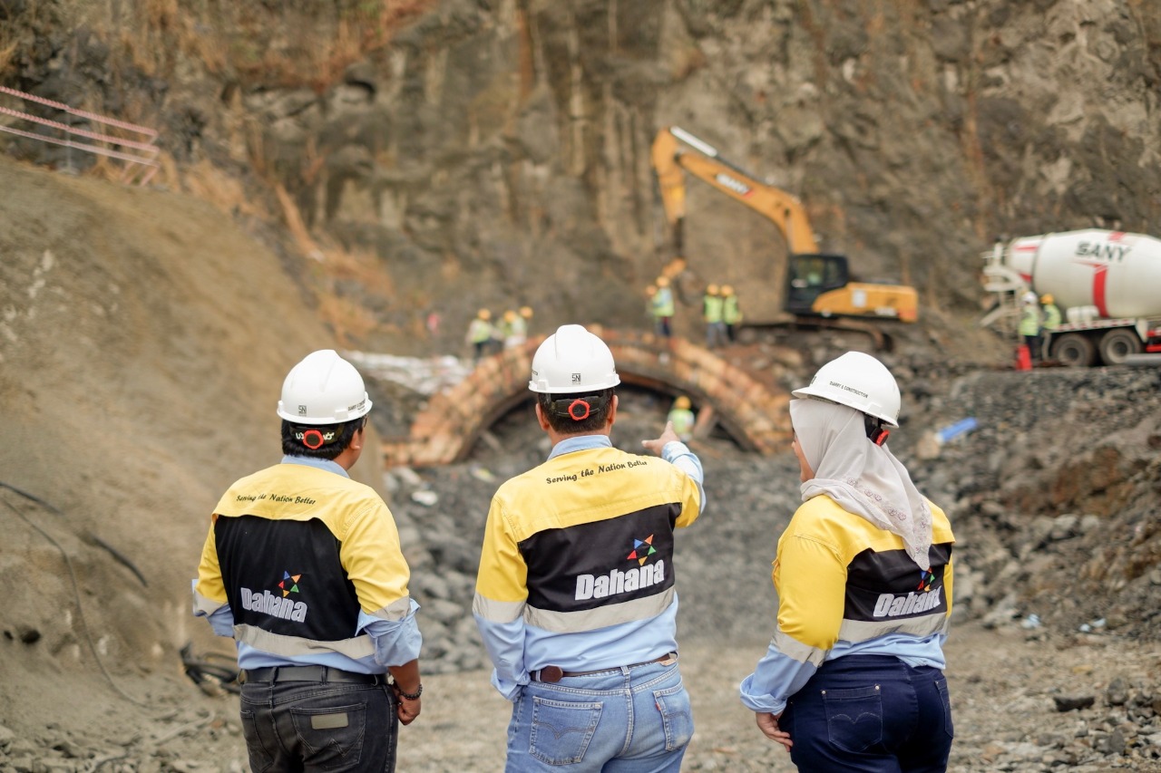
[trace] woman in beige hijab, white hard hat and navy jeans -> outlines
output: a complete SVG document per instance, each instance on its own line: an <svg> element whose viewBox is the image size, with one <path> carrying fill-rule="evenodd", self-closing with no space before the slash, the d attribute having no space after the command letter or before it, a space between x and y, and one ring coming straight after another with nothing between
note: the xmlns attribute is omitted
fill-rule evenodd
<svg viewBox="0 0 1161 773"><path fill-rule="evenodd" d="M802 505L778 541L778 624L742 702L799 771L946 771L954 536L886 446L899 385L848 352L793 395Z"/></svg>

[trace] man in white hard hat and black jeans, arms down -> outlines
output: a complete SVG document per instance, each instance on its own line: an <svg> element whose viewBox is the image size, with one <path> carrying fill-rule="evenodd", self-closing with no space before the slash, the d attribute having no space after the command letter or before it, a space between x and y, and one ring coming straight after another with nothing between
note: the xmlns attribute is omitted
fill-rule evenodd
<svg viewBox="0 0 1161 773"><path fill-rule="evenodd" d="M254 770L394 771L398 723L419 716L418 605L399 535L378 494L347 475L370 407L354 366L308 355L282 384L282 462L214 508L194 614L237 640Z"/></svg>

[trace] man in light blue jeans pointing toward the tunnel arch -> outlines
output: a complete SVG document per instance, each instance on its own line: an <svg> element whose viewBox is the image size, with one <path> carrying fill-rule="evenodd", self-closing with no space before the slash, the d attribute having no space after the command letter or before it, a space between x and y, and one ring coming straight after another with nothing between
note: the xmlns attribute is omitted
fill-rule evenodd
<svg viewBox="0 0 1161 773"><path fill-rule="evenodd" d="M676 772L693 734L672 559L673 529L705 508L701 463L668 424L642 441L662 458L614 448L619 383L598 337L549 335L528 389L553 450L488 512L473 614L513 703L510 773Z"/></svg>

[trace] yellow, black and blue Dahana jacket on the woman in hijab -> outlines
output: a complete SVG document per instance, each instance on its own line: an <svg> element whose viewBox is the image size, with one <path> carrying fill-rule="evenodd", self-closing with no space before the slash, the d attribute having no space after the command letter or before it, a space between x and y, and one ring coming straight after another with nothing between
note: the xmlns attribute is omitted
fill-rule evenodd
<svg viewBox="0 0 1161 773"><path fill-rule="evenodd" d="M929 570L903 540L825 494L802 504L778 540L778 621L766 656L742 680L742 702L778 714L819 666L848 655L945 665L952 609L951 523L931 505Z"/></svg>

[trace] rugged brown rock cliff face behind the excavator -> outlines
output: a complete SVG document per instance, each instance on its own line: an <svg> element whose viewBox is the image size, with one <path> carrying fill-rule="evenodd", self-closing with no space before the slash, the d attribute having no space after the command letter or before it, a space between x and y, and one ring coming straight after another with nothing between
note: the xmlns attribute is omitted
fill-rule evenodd
<svg viewBox="0 0 1161 773"><path fill-rule="evenodd" d="M648 160L669 124L928 306L974 304L996 234L1161 214L1161 7L1139 0L8 0L0 21L0 82L157 125L168 185L212 168L301 218L298 247L373 255L388 289L331 284L372 345L406 346L430 309L449 340L478 306L641 324L672 257ZM705 282L776 306L777 229L688 198L679 320Z"/></svg>

